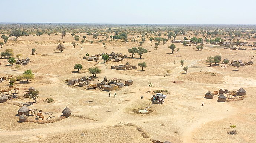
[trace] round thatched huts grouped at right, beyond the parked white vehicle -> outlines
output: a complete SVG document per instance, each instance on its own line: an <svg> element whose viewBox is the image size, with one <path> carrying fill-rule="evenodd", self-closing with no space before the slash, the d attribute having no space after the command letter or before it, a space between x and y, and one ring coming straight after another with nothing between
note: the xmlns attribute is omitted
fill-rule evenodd
<svg viewBox="0 0 256 143"><path fill-rule="evenodd" d="M211 91L208 91L205 94L204 98L213 99L214 95L219 94L218 101L219 102L226 102L227 97L223 94L228 94L228 93L229 93L229 91L227 89L225 89L225 90L220 89L218 93L216 93L216 91L214 91L214 93L212 93ZM238 96L242 96L242 95L246 94L246 91L241 87L239 90L235 91L235 93Z"/></svg>

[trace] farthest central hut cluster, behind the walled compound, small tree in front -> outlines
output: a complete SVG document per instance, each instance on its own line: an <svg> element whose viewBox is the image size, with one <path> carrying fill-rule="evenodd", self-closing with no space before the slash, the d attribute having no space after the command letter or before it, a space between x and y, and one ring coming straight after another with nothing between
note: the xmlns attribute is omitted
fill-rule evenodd
<svg viewBox="0 0 256 143"><path fill-rule="evenodd" d="M127 58L127 55L123 55L122 53L114 53L112 52L111 54L109 53L102 53L102 54L95 54L95 55L91 55L91 56L83 56L83 59L87 59L88 61L98 61L99 59L101 59L102 55L108 55L109 56L109 60L114 59L114 62L119 62L121 60L124 60L125 58Z"/></svg>

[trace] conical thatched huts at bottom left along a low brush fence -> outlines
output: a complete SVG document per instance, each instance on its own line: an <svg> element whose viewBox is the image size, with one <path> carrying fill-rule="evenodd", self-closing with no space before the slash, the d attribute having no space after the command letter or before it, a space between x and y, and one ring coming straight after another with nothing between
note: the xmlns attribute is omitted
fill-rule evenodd
<svg viewBox="0 0 256 143"><path fill-rule="evenodd" d="M27 108L25 105L20 107L20 109L18 110L19 122L20 123L26 121L27 117L30 115L29 111L31 111L31 109ZM71 115L71 112L72 111L68 107L66 107L62 111L62 116L69 117ZM37 112L37 116L38 116L38 114L42 115L42 112Z"/></svg>

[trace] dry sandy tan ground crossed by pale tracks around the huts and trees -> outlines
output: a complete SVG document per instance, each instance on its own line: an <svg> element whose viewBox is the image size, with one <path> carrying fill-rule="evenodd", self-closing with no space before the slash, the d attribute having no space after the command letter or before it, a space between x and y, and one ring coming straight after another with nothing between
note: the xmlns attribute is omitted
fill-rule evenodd
<svg viewBox="0 0 256 143"><path fill-rule="evenodd" d="M83 36L85 34L79 34ZM30 83L14 83L20 88L19 98L8 100L0 104L0 142L124 142L124 143L151 143L153 140L168 140L173 143L223 143L256 142L256 104L255 99L255 72L256 67L235 67L224 65L209 67L205 60L209 56L221 55L223 59L243 60L248 62L255 56L252 50L238 51L227 50L217 46L213 48L205 44L203 51L198 51L195 46L182 46L175 43L180 50L171 54L168 48L170 42L160 48L150 48L150 41L142 47L151 52L144 54L140 59L137 54L134 59L127 49L140 46L138 43L106 42L104 49L102 43L78 43L73 48L70 44L73 36L70 34L60 39L65 41L66 50L62 53L56 50L60 35L25 36L19 38L17 43L10 40L1 51L13 49L14 55L21 53L22 58L29 57L31 63L15 70L9 66L7 59L0 59L0 76L23 74L24 70L32 69L35 79ZM81 40L82 37L80 37ZM182 38L182 37L181 37ZM92 40L86 35L86 40ZM100 38L101 39L101 38ZM35 43L35 41L37 43ZM154 46L154 45L153 45ZM81 49L83 47L83 49ZM36 55L31 55L31 49L36 48ZM248 48L249 49L249 48ZM122 53L129 58L121 62L107 62L102 60L87 61L83 59L86 53ZM180 60L188 66L185 74ZM175 60L175 63L174 63ZM146 62L144 71L135 70L119 71L111 69L112 65L125 64L137 65ZM106 76L108 79L119 78L122 81L133 80L134 84L119 90L106 92L102 90L86 90L85 87L72 87L65 83L65 79L91 76L87 70L77 73L73 69L76 63L81 63L83 69L99 67L102 70L95 78L101 82ZM171 70L166 75L165 69ZM206 74L216 73L216 75ZM177 82L173 82L177 81ZM148 84L153 84L151 92ZM23 98L29 87L39 91L37 103L32 99ZM0 83L1 90L9 87L9 81ZM227 88L236 91L243 87L247 91L244 100L232 102L217 102L205 99L207 91ZM151 104L149 98L154 95L152 90L168 90L164 104ZM108 97L108 94L111 97ZM117 97L113 98L114 93ZM143 99L140 97L144 96ZM53 98L52 103L45 103L46 98ZM92 101L92 102L87 102ZM204 102L204 106L201 106ZM19 106L18 106L19 105ZM53 112L49 116L62 115L62 110L68 106L72 110L69 118L49 124L19 123L16 116L21 105L31 109L42 109L43 112ZM148 114L137 114L134 109L150 108ZM110 112L107 112L110 111ZM80 118L83 116L86 118ZM34 119L35 116L29 116ZM128 124L127 123L131 123ZM237 135L229 135L231 124L237 126ZM148 138L144 138L148 137Z"/></svg>

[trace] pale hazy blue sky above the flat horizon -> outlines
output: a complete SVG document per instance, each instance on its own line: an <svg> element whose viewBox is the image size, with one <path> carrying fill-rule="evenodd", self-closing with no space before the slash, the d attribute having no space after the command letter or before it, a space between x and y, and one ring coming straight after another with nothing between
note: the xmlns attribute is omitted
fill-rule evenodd
<svg viewBox="0 0 256 143"><path fill-rule="evenodd" d="M0 22L256 24L255 0L0 0Z"/></svg>

